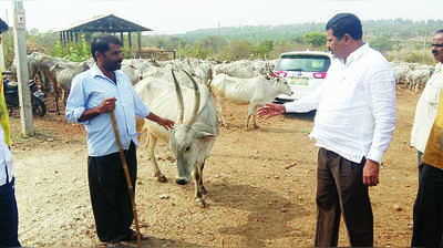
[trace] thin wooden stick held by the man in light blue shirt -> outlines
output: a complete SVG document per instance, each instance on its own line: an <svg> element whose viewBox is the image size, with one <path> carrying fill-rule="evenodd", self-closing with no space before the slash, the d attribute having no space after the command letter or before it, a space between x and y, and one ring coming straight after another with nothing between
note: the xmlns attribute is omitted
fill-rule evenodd
<svg viewBox="0 0 443 248"><path fill-rule="evenodd" d="M110 112L110 115L111 115L112 127L114 128L115 141L116 141L117 146L119 146L120 157L122 158L123 170L125 172L125 176L126 176L127 189L130 190L130 196L131 196L131 202L132 202L132 211L134 214L134 220L135 220L135 229L137 231L137 247L142 247L142 237L141 237L141 234L140 234L137 209L135 207L134 189L132 187L130 172L127 170L126 158L124 156L122 142L120 141L119 126L117 126L117 122L115 120L114 111Z"/></svg>

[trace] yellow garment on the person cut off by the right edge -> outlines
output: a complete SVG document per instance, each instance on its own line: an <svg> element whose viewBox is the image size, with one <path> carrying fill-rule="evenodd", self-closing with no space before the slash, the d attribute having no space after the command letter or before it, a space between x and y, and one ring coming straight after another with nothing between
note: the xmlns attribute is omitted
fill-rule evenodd
<svg viewBox="0 0 443 248"><path fill-rule="evenodd" d="M443 169L443 91L440 94L439 108L436 117L432 125L430 137L427 138L426 148L424 149L423 162Z"/></svg>

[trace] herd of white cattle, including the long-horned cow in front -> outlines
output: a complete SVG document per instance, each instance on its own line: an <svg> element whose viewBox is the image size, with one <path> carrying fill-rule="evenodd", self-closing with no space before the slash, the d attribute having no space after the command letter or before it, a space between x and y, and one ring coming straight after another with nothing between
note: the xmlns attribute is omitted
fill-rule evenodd
<svg viewBox="0 0 443 248"><path fill-rule="evenodd" d="M249 104L246 130L253 117L257 127L257 107L271 102L279 94L291 94L285 80L270 78L276 61L237 61L215 63L203 60L151 61L124 60L122 71L130 78L142 101L163 117L177 120L172 132L145 120L136 120L137 132L146 135L147 151L159 182L166 182L155 159L158 140L169 143L177 164L177 184L195 180L196 202L206 207L203 195L203 168L214 141L219 133L223 117L223 102ZM59 99L63 92L65 103L72 79L87 70L93 61L71 62L60 58L34 52L28 55L30 79L38 78L41 87L55 97L60 114ZM393 63L398 83L418 91L432 73L431 66ZM11 71L16 71L16 63ZM216 101L215 101L216 100Z"/></svg>

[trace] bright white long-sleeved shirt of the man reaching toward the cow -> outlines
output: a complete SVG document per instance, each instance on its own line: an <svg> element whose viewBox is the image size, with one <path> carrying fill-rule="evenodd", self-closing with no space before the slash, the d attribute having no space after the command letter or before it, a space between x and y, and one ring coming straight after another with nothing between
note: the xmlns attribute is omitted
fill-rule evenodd
<svg viewBox="0 0 443 248"><path fill-rule="evenodd" d="M383 55L363 44L346 62L333 59L318 97L310 134L316 145L354 163L363 157L380 163L396 121L394 72ZM285 106L299 112L305 104Z"/></svg>

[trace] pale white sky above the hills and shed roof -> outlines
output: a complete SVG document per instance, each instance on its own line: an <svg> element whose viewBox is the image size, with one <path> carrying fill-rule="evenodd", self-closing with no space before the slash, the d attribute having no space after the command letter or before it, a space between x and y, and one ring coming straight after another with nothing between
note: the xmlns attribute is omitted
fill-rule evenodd
<svg viewBox="0 0 443 248"><path fill-rule="evenodd" d="M0 0L0 18L13 25L13 1ZM120 18L175 34L207 28L326 23L352 12L361 20L443 19L443 0L19 0L27 29L63 30L97 16ZM363 27L364 28L364 27ZM443 27L442 27L443 28Z"/></svg>

